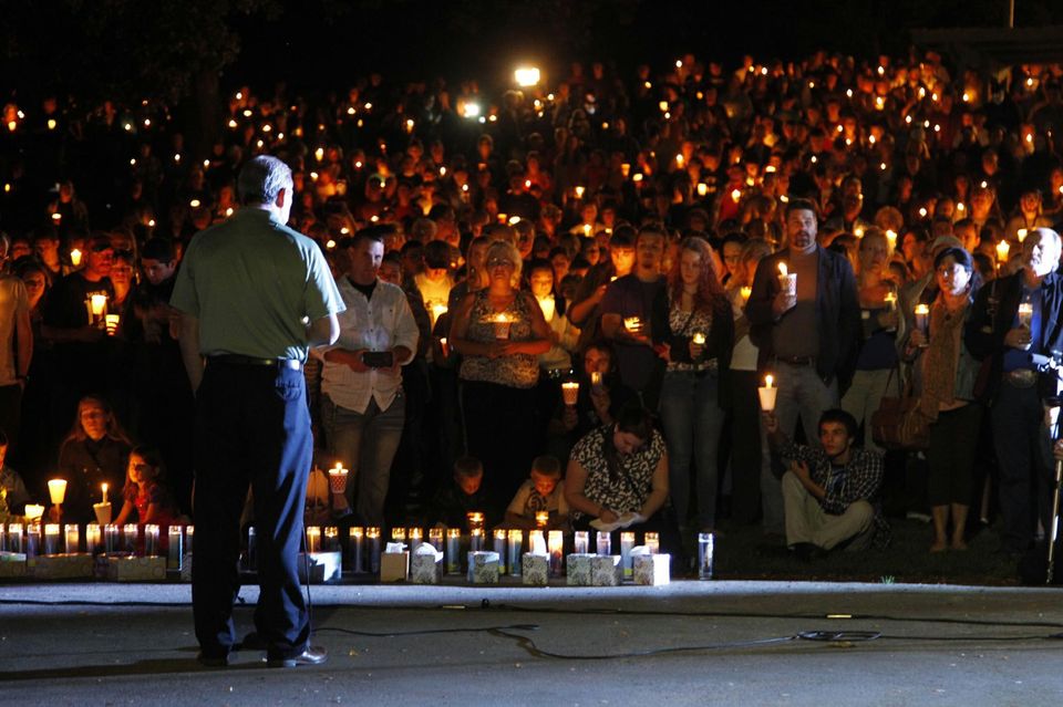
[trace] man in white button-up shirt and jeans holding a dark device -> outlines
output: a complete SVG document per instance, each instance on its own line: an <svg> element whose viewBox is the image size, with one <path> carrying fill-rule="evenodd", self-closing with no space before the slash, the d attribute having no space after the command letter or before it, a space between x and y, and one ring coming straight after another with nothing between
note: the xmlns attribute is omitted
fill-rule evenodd
<svg viewBox="0 0 1063 707"><path fill-rule="evenodd" d="M364 228L344 245L339 279L347 311L340 339L314 352L321 373L321 425L331 458L350 466L347 488L359 524L382 526L391 461L405 420L402 366L417 349L417 324L401 288L376 277L383 236Z"/></svg>

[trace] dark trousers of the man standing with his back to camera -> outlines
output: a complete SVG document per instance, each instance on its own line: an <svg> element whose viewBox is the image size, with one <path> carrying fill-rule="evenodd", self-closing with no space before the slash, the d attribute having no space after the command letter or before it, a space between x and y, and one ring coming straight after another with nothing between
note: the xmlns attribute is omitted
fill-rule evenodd
<svg viewBox="0 0 1063 707"><path fill-rule="evenodd" d="M310 637L297 572L313 439L301 370L209 361L196 395L192 607L205 655L236 643L240 511L250 485L261 592L255 625L272 658Z"/></svg>

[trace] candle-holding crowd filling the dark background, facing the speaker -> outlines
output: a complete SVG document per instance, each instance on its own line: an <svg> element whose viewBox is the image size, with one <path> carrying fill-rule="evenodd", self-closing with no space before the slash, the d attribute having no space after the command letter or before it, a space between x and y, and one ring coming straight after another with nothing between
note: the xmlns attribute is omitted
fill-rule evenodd
<svg viewBox="0 0 1063 707"><path fill-rule="evenodd" d="M241 166L270 154L345 305L305 375L314 465L352 482L308 513L549 509L679 552L727 519L806 558L884 545L887 516L928 520L931 552L998 516L1004 552L1045 532L1060 65L684 55L576 63L494 104L373 74L224 107L204 155L155 101L4 107L3 512L53 476L82 520L102 482L123 518L193 512L171 297L192 236L234 218ZM871 417L906 385L926 443L887 449Z"/></svg>

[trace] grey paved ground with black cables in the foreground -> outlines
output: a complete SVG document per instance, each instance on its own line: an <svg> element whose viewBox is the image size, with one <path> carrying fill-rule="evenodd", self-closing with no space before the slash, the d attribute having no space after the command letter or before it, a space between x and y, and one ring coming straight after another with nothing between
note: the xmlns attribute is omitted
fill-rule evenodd
<svg viewBox="0 0 1063 707"><path fill-rule="evenodd" d="M241 628L251 627L256 594L242 593ZM267 669L247 652L226 669L198 667L188 599L187 585L172 584L0 586L0 703L970 707L1063 699L1063 640L1046 637L1063 632L1057 590L314 586L316 641L330 659L288 670ZM785 640L821 630L883 636ZM615 657L596 659L602 656Z"/></svg>

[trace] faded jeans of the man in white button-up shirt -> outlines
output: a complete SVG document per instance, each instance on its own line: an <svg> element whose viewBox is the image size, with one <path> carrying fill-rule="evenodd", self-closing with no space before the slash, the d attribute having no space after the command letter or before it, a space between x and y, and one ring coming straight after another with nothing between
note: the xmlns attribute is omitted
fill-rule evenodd
<svg viewBox="0 0 1063 707"><path fill-rule="evenodd" d="M384 499L391 480L391 462L402 439L406 398L400 391L388 409L370 399L364 413L340 407L328 395L321 397L321 424L336 461L351 465L347 500L363 526L384 524ZM355 493L357 489L357 493Z"/></svg>

